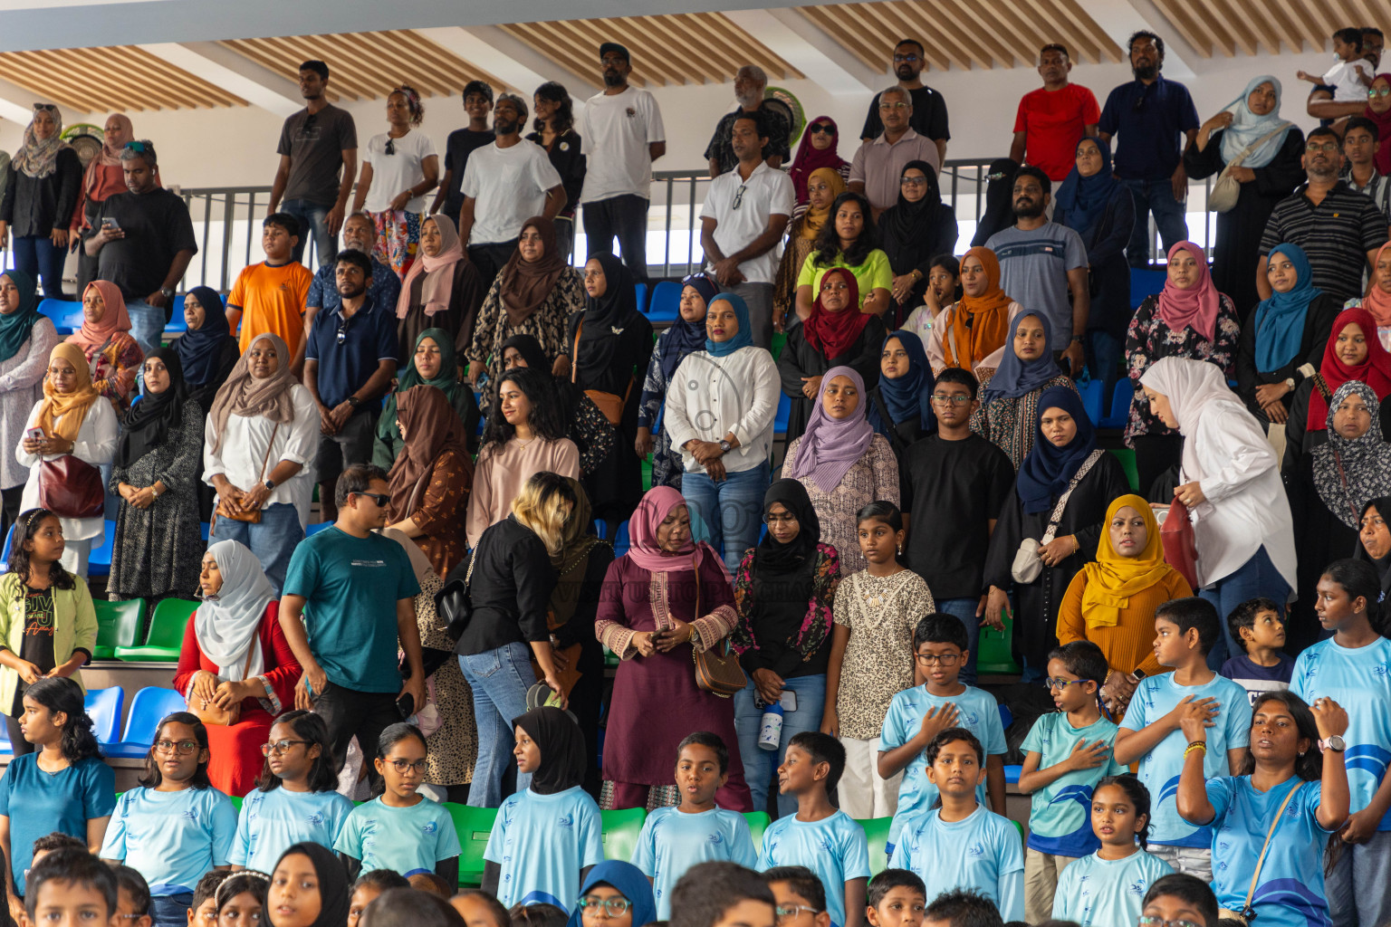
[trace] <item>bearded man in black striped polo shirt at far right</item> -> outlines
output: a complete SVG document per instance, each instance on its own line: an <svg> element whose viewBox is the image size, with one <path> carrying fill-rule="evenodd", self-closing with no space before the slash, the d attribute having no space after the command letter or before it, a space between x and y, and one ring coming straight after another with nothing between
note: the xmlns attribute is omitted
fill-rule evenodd
<svg viewBox="0 0 1391 927"><path fill-rule="evenodd" d="M1387 217L1372 197L1338 179L1342 150L1333 129L1309 132L1303 168L1308 182L1276 203L1260 236L1256 289L1262 299L1270 299L1266 256L1276 245L1289 242L1309 257L1313 285L1341 306L1362 295L1362 272L1376 265L1387 240Z"/></svg>

